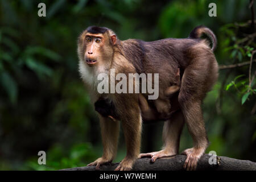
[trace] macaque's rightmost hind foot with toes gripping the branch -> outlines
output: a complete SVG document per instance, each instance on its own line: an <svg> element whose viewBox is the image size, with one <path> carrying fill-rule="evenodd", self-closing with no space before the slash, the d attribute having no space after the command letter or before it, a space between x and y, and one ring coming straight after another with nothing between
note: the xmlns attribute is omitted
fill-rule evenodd
<svg viewBox="0 0 256 182"><path fill-rule="evenodd" d="M188 148L184 150L181 154L187 155L187 159L185 160L183 168L187 169L187 171L195 171L197 162L204 154L204 151L204 148Z"/></svg>

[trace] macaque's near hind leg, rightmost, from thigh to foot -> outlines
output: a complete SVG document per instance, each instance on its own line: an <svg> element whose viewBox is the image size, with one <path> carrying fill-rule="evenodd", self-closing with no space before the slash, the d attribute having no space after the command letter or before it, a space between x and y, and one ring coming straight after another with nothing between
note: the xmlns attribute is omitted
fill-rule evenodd
<svg viewBox="0 0 256 182"><path fill-rule="evenodd" d="M213 82L210 80L210 76L214 77L214 72L209 72L199 61L200 59L198 62L192 61L193 64L185 69L178 97L194 145L193 148L183 151L183 154L187 155L184 163L184 168L187 170L196 169L197 162L208 147L201 104L205 94L212 86ZM210 60L207 63L210 63Z"/></svg>

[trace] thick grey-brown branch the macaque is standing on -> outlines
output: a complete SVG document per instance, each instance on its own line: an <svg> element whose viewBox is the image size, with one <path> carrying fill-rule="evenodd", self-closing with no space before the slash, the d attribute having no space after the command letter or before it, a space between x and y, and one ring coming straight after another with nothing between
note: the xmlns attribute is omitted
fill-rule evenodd
<svg viewBox="0 0 256 182"><path fill-rule="evenodd" d="M238 160L225 156L217 156L216 164L209 164L208 154L204 154L199 163L197 164L197 170L216 170L216 171L256 171L256 163L250 160ZM150 163L150 158L138 159L133 167L133 171L180 171L183 169L185 162L185 155L177 155L171 158L157 159L155 163ZM210 159L212 161L212 159ZM105 164L100 167L102 171L112 171L119 163ZM61 169L61 171L95 171L95 166L76 167Z"/></svg>

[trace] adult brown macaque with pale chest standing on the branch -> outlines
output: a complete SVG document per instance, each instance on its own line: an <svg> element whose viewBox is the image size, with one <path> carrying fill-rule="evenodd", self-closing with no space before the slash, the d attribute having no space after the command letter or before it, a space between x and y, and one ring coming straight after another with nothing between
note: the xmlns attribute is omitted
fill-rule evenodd
<svg viewBox="0 0 256 182"><path fill-rule="evenodd" d="M200 39L203 34L211 40L212 48L206 40ZM130 170L135 160L141 157L151 157L154 162L158 158L176 155L184 122L194 142L192 148L183 151L183 154L187 155L184 168L196 169L198 160L208 147L201 104L218 77L218 64L213 54L215 47L215 35L209 28L201 26L196 27L189 38L168 38L154 42L136 39L121 41L112 30L105 27L92 26L82 32L78 41L79 71L82 80L88 86L92 102L96 102L96 110L102 109L101 105L105 103L110 104L112 110L110 113L109 110L100 111L104 113L103 116L99 115L104 152L101 158L88 165L96 165L98 169L101 164L112 162L114 159L119 122L114 122L108 117L114 115L113 118L122 122L127 148L125 158L115 170ZM154 101L146 100L148 93L99 94L97 76L99 73L113 76L110 75L111 68L114 68L116 73L125 75L159 73L159 98ZM181 82L175 90L172 86L177 83L177 72ZM168 97L169 94L172 96ZM159 105L159 102L162 104ZM163 113L172 113L164 123L164 147L161 151L139 154L143 104L150 105L148 108L155 113L159 113L162 107L165 107ZM170 110L166 111L166 108ZM153 117L157 118L157 114ZM159 116L159 119L160 117L162 116Z"/></svg>

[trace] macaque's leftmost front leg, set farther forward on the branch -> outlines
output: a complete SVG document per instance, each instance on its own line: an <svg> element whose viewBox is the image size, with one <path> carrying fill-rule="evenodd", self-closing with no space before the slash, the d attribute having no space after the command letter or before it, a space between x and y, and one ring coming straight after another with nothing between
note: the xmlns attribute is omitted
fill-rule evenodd
<svg viewBox="0 0 256 182"><path fill-rule="evenodd" d="M119 122L114 122L110 118L104 118L101 115L100 126L101 136L103 144L103 155L94 162L87 166L96 166L96 169L100 169L100 165L112 162L117 152L117 143L119 135Z"/></svg>

